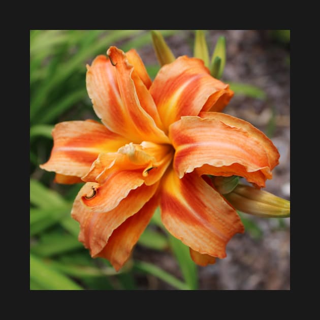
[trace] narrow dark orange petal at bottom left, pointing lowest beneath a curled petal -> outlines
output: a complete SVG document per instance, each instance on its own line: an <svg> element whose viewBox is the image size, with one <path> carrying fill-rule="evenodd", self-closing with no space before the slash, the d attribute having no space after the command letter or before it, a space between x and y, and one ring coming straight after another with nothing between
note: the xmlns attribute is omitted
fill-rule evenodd
<svg viewBox="0 0 320 320"><path fill-rule="evenodd" d="M158 197L154 195L136 214L127 218L120 227L113 231L107 245L97 257L109 260L116 271L122 268L158 204Z"/></svg>

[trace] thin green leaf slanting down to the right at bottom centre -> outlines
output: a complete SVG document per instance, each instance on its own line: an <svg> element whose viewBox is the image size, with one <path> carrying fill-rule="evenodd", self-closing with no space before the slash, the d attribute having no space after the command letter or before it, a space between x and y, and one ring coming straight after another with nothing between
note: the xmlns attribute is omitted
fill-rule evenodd
<svg viewBox="0 0 320 320"><path fill-rule="evenodd" d="M153 276L169 283L172 285L174 288L179 289L179 290L189 290L189 286L186 283L183 283L170 273L150 264L147 262L142 262L142 261L135 261L134 263L134 270L140 271L143 273L149 273L152 274Z"/></svg>

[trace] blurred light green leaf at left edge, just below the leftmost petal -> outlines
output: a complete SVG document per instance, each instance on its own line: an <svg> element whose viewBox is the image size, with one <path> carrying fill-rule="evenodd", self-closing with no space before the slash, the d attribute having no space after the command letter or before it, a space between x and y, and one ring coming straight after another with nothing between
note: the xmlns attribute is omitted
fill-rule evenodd
<svg viewBox="0 0 320 320"><path fill-rule="evenodd" d="M30 203L40 208L66 205L66 201L58 193L47 189L35 179L30 179Z"/></svg>

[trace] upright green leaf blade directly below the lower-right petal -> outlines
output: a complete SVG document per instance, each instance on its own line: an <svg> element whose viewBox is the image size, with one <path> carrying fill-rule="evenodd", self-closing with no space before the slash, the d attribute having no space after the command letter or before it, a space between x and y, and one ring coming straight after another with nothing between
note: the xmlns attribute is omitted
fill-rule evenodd
<svg viewBox="0 0 320 320"><path fill-rule="evenodd" d="M198 270L196 264L190 258L189 248L172 235L169 235L169 243L189 289L197 290Z"/></svg>

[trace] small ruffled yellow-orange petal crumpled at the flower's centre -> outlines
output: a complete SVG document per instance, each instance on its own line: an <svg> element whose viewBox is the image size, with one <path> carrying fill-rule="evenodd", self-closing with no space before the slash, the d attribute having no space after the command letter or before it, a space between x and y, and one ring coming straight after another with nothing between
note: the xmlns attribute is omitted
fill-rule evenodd
<svg viewBox="0 0 320 320"><path fill-rule="evenodd" d="M161 179L172 157L173 148L170 145L152 142L126 144L117 153L101 153L82 180L103 184L116 172L130 171L140 183L143 179L146 185L151 185Z"/></svg>

